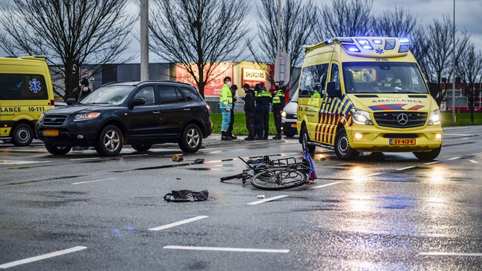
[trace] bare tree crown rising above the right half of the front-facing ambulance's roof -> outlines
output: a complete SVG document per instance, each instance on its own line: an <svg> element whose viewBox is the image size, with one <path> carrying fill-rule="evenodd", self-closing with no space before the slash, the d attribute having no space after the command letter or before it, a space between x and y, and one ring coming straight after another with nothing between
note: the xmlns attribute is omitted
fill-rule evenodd
<svg viewBox="0 0 482 271"><path fill-rule="evenodd" d="M417 17L409 10L395 7L371 19L374 36L408 37L416 29Z"/></svg>

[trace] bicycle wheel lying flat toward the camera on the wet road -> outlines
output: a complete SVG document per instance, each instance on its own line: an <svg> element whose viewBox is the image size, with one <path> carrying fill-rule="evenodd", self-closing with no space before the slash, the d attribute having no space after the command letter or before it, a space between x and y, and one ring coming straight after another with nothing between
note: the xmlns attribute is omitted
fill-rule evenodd
<svg viewBox="0 0 482 271"><path fill-rule="evenodd" d="M306 178L302 171L279 167L263 169L253 176L251 184L263 190L283 190L303 185Z"/></svg>

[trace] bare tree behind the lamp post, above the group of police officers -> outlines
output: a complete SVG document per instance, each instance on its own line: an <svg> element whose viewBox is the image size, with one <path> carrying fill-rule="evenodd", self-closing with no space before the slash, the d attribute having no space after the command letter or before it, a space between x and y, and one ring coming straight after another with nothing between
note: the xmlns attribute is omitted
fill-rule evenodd
<svg viewBox="0 0 482 271"><path fill-rule="evenodd" d="M249 51L258 64L275 63L277 54L277 0L262 0L258 14L258 45ZM285 0L281 8L280 50L291 58L290 74L303 58L302 45L308 43L315 27L317 7L312 0ZM267 73L266 71L266 74ZM273 80L273 78L269 78Z"/></svg>

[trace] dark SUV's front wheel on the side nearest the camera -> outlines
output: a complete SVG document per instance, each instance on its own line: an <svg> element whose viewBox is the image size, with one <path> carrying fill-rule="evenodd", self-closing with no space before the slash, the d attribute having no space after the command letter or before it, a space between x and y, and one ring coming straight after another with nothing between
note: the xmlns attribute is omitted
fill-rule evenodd
<svg viewBox="0 0 482 271"><path fill-rule="evenodd" d="M116 156L121 152L123 142L121 130L115 125L107 125L98 137L96 151L102 156Z"/></svg>

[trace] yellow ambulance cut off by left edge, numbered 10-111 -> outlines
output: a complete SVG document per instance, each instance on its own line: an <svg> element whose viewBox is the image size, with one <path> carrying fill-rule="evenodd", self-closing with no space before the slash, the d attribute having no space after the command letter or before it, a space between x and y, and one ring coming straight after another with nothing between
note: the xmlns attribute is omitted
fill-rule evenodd
<svg viewBox="0 0 482 271"><path fill-rule="evenodd" d="M35 122L53 107L45 57L0 57L0 139L28 146L35 137Z"/></svg>

